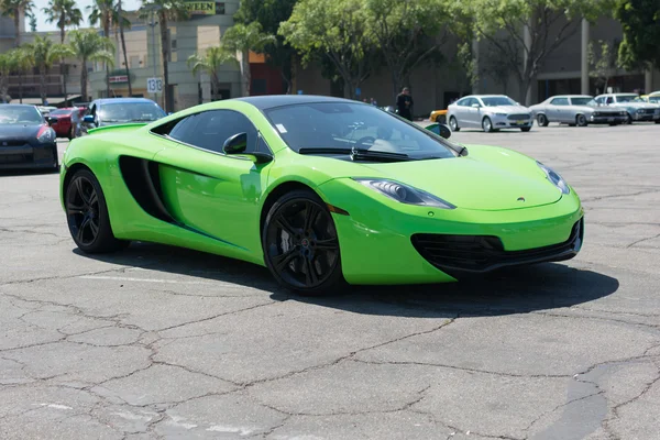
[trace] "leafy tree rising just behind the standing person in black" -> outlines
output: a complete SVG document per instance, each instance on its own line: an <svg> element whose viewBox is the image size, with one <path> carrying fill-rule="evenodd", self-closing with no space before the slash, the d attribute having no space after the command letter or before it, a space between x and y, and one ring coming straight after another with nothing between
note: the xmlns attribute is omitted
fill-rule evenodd
<svg viewBox="0 0 660 440"><path fill-rule="evenodd" d="M392 75L395 97L410 72L437 59L444 43L443 25L451 19L442 0L365 0L369 32ZM440 34L440 36L439 36Z"/></svg>

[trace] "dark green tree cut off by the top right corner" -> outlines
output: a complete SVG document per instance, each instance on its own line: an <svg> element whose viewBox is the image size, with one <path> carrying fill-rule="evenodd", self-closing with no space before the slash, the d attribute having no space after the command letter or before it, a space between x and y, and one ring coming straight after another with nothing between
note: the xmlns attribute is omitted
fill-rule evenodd
<svg viewBox="0 0 660 440"><path fill-rule="evenodd" d="M618 50L626 69L660 69L660 2L658 0L619 0L614 16L622 23L624 40Z"/></svg>

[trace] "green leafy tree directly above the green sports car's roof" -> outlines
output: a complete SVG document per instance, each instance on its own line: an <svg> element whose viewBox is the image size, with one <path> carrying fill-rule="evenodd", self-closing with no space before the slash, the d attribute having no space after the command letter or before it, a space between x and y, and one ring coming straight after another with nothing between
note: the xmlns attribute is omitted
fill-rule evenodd
<svg viewBox="0 0 660 440"><path fill-rule="evenodd" d="M344 96L354 98L372 73L376 52L366 19L364 0L301 0L279 34L302 54L305 64L319 52L326 54L344 81Z"/></svg>

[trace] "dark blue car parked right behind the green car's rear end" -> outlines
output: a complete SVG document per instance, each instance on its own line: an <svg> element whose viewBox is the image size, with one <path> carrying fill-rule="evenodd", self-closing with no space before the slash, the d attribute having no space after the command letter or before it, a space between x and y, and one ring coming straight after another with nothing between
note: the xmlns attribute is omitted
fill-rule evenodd
<svg viewBox="0 0 660 440"><path fill-rule="evenodd" d="M89 105L82 120L82 132L122 123L153 122L165 116L157 103L146 98L97 99Z"/></svg>

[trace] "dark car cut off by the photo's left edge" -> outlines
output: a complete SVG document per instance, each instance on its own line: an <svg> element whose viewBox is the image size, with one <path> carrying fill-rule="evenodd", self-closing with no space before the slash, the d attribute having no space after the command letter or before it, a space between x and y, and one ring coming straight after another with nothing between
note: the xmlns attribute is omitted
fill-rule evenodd
<svg viewBox="0 0 660 440"><path fill-rule="evenodd" d="M58 169L55 131L35 106L0 106L0 169Z"/></svg>

